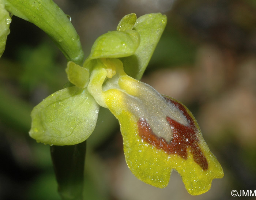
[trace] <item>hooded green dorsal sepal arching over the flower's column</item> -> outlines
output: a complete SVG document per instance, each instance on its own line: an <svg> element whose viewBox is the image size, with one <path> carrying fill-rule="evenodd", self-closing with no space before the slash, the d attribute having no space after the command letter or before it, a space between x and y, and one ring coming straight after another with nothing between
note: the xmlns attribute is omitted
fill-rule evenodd
<svg viewBox="0 0 256 200"><path fill-rule="evenodd" d="M119 58L131 56L140 43L137 31L111 31L98 37L94 42L87 61L98 58ZM87 62L86 62L87 63Z"/></svg>

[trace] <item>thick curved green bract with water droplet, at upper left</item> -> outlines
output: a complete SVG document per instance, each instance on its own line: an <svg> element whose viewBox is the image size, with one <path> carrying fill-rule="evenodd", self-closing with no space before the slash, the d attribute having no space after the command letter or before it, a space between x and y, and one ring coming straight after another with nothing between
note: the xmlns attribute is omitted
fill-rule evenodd
<svg viewBox="0 0 256 200"><path fill-rule="evenodd" d="M67 60L83 63L84 53L75 28L52 0L1 0L5 9L45 31Z"/></svg>

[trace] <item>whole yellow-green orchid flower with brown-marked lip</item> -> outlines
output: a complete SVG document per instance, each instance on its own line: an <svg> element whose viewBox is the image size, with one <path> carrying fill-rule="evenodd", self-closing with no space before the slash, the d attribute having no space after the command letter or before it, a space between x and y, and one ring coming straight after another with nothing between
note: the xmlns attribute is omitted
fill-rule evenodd
<svg viewBox="0 0 256 200"><path fill-rule="evenodd" d="M50 145L81 143L93 132L99 107L106 107L119 121L127 165L139 180L164 188L175 169L190 194L209 190L223 170L195 118L181 102L137 80L165 25L162 14L126 15L117 31L95 41L83 66L69 61L73 86L34 107L30 136Z"/></svg>

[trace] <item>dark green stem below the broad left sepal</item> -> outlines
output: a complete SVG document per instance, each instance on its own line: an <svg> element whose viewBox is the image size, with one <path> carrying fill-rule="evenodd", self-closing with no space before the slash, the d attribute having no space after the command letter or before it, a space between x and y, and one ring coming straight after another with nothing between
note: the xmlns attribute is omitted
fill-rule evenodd
<svg viewBox="0 0 256 200"><path fill-rule="evenodd" d="M82 200L86 141L72 146L52 146L50 151L61 198Z"/></svg>

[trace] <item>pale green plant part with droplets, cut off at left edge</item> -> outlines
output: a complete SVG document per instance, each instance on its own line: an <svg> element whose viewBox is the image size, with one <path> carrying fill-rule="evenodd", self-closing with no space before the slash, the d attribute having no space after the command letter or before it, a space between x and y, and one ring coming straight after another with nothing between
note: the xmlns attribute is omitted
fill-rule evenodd
<svg viewBox="0 0 256 200"><path fill-rule="evenodd" d="M10 33L11 21L9 13L4 9L4 5L0 3L0 57L4 53L7 35Z"/></svg>

